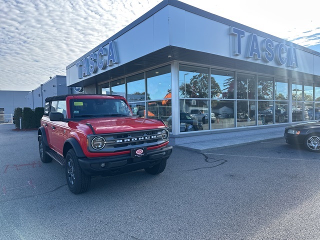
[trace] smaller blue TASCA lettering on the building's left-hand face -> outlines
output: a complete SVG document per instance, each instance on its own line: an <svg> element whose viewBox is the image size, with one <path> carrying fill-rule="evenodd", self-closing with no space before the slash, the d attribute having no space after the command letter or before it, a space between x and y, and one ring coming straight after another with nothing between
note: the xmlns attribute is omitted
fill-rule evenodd
<svg viewBox="0 0 320 240"><path fill-rule="evenodd" d="M103 70L113 63L118 63L118 57L113 41L110 41L108 48L100 47L96 53L90 53L88 57L78 61L77 67L78 78L96 73L98 69Z"/></svg>

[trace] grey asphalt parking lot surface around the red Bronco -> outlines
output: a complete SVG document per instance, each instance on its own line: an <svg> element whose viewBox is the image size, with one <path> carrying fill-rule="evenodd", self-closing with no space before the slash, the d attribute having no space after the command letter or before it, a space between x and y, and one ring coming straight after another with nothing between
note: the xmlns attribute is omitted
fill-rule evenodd
<svg viewBox="0 0 320 240"><path fill-rule="evenodd" d="M320 154L261 140L196 152L167 167L94 177L69 192L42 163L37 131L0 124L0 239L320 239Z"/></svg>

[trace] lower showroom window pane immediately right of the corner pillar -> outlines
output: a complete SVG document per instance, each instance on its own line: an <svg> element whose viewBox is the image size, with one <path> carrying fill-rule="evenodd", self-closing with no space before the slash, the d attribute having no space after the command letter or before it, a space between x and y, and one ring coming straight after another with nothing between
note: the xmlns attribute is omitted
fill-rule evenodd
<svg viewBox="0 0 320 240"><path fill-rule="evenodd" d="M209 129L208 100L180 99L180 132Z"/></svg>

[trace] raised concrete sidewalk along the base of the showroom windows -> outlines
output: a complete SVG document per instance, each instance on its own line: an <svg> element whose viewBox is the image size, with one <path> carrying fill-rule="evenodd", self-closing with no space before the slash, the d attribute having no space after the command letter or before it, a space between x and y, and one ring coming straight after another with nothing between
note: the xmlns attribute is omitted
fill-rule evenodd
<svg viewBox="0 0 320 240"><path fill-rule="evenodd" d="M234 132L221 132L197 135L197 136L185 136L175 137L173 142L177 147L190 149L193 151L204 152L205 150L220 149L225 147L232 147L237 145L243 145L252 142L258 142L262 140L276 139L283 137L285 126L276 127L261 127L258 129L247 129ZM201 141L195 139L201 139ZM283 138L284 141L284 138Z"/></svg>

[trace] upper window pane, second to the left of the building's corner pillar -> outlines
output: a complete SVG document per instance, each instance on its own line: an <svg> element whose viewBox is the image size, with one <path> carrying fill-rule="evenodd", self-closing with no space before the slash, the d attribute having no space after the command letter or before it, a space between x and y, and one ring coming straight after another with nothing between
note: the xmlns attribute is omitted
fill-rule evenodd
<svg viewBox="0 0 320 240"><path fill-rule="evenodd" d="M126 82L128 102L145 100L145 83L143 72L127 77Z"/></svg>

